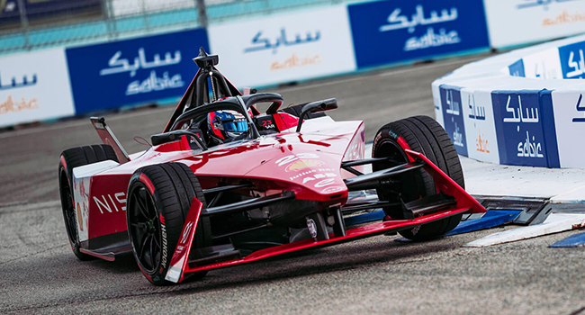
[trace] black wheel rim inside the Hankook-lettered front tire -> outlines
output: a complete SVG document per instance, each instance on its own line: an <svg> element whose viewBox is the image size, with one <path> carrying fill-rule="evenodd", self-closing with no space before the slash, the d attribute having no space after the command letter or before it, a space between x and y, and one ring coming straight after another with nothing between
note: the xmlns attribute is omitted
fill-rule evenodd
<svg viewBox="0 0 585 315"><path fill-rule="evenodd" d="M130 241L139 265L147 274L157 270L162 254L160 220L152 195L139 183L130 192L128 203Z"/></svg>

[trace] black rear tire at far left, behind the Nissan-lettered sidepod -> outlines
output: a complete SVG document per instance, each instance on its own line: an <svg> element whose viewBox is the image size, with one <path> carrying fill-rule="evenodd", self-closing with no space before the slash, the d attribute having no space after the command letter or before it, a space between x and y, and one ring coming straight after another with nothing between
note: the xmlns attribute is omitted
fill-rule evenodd
<svg viewBox="0 0 585 315"><path fill-rule="evenodd" d="M118 162L118 157L116 157L113 148L106 144L69 148L63 151L61 157L59 157L58 187L61 197L63 219L65 220L65 228L67 229L67 237L69 238L71 249L73 249L73 253L80 260L88 260L92 257L79 251L81 245L77 234L77 228L83 230L87 229L87 227L85 227L84 222L80 220L81 209L79 207L76 209L75 201L73 199L73 168L102 162L108 159ZM89 189L89 187L86 188Z"/></svg>

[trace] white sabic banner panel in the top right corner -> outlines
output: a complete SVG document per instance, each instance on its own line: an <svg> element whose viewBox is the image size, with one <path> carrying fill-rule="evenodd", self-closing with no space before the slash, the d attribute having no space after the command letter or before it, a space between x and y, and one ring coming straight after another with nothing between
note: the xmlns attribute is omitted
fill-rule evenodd
<svg viewBox="0 0 585 315"><path fill-rule="evenodd" d="M585 32L585 0L484 0L483 4L494 48Z"/></svg>

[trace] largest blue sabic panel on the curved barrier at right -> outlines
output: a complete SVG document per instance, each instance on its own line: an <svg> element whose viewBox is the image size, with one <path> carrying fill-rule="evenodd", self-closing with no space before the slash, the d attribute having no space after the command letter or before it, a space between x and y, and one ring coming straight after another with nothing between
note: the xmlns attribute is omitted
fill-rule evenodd
<svg viewBox="0 0 585 315"><path fill-rule="evenodd" d="M550 91L491 93L500 163L560 167Z"/></svg>

